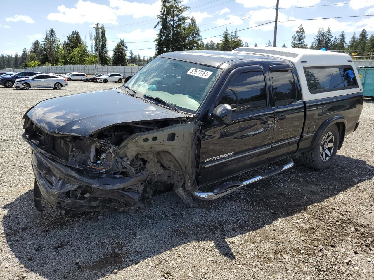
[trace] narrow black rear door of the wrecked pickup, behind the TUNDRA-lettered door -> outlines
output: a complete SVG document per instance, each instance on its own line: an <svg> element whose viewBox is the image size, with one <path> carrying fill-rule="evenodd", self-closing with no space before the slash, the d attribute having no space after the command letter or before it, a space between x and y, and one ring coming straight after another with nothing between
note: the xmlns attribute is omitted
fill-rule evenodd
<svg viewBox="0 0 374 280"><path fill-rule="evenodd" d="M275 127L269 162L297 152L304 124L304 104L296 72L291 65L270 66Z"/></svg>

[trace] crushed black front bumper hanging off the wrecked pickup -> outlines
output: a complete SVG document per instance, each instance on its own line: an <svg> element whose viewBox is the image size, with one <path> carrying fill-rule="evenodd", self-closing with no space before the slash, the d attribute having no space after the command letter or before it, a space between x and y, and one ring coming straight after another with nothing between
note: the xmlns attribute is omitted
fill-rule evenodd
<svg viewBox="0 0 374 280"><path fill-rule="evenodd" d="M71 168L47 158L27 136L23 138L31 146L32 167L43 200L59 211L118 209L136 212L147 206L143 194L123 188L145 182L148 173L123 177ZM85 195L71 195L71 191L79 190L84 190Z"/></svg>

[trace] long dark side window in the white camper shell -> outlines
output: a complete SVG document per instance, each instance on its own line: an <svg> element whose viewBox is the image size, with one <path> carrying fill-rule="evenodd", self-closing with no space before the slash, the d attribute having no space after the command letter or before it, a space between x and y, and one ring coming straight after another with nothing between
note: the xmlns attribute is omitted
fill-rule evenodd
<svg viewBox="0 0 374 280"><path fill-rule="evenodd" d="M305 75L311 93L358 87L350 67L306 68Z"/></svg>

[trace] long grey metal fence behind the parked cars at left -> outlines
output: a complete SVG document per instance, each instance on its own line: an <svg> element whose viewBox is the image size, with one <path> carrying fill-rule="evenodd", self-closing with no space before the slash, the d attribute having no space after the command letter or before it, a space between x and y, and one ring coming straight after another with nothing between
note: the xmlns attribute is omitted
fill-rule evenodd
<svg viewBox="0 0 374 280"><path fill-rule="evenodd" d="M9 72L42 72L42 73L70 73L70 72L80 72L86 75L93 74L106 74L106 73L121 73L125 77L133 75L143 66L101 66L101 65L63 65L63 66L39 66L21 69L6 69L0 71Z"/></svg>

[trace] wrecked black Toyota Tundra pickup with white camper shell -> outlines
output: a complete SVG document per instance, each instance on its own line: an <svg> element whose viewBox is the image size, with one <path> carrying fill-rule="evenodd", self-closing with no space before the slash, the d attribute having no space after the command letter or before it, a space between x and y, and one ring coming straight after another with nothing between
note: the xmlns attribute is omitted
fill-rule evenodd
<svg viewBox="0 0 374 280"><path fill-rule="evenodd" d="M359 124L356 77L341 53L186 51L156 57L121 87L42 101L24 115L35 205L135 212L168 187L192 205L291 168L295 153L327 168Z"/></svg>

